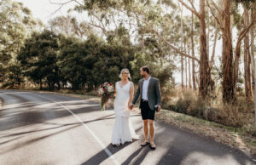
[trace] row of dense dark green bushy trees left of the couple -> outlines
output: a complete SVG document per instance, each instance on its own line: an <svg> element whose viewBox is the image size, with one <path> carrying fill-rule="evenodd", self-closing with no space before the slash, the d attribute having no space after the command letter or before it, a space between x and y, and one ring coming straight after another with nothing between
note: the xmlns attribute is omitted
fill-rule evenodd
<svg viewBox="0 0 256 165"><path fill-rule="evenodd" d="M22 76L40 84L40 88L43 83L50 90L71 83L74 90L90 90L106 81L118 81L121 68L131 69L129 61L134 60L135 51L131 44L104 42L94 35L81 41L45 30L26 39L17 60Z"/></svg>

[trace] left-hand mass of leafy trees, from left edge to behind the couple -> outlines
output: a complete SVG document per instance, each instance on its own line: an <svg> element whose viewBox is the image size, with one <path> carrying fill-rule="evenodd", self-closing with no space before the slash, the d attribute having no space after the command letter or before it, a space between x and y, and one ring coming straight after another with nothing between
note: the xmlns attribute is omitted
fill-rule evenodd
<svg viewBox="0 0 256 165"><path fill-rule="evenodd" d="M32 83L41 89L91 91L119 81L123 68L137 83L143 65L150 65L162 87L174 86L174 62L158 55L162 51L154 37L143 45L131 43L130 30L121 24L102 36L70 16L49 20L47 26L12 0L0 2L0 15L0 88Z"/></svg>

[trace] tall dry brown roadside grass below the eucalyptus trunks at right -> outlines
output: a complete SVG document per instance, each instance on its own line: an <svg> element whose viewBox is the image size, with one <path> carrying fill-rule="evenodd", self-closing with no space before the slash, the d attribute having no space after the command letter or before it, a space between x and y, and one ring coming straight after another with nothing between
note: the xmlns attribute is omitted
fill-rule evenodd
<svg viewBox="0 0 256 165"><path fill-rule="evenodd" d="M243 96L237 97L233 103L224 104L218 91L208 101L201 100L193 89L177 88L167 91L164 89L162 94L163 108L167 110L236 128L250 128L253 125L254 103Z"/></svg>

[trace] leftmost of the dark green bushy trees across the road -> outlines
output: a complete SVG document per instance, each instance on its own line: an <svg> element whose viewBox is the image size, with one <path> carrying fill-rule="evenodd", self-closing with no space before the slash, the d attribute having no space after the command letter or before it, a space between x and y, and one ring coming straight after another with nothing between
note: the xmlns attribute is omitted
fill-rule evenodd
<svg viewBox="0 0 256 165"><path fill-rule="evenodd" d="M43 80L48 83L49 89L54 88L54 84L58 82L58 41L59 38L51 31L34 32L32 37L26 39L25 46L17 57L25 75L35 83L40 83L41 88Z"/></svg>

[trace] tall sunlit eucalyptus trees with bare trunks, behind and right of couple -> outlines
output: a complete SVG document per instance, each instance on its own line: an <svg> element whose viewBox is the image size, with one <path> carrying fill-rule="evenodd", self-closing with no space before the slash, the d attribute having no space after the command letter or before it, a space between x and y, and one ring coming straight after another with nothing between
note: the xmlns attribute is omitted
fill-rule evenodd
<svg viewBox="0 0 256 165"><path fill-rule="evenodd" d="M226 103L243 93L253 99L255 0L94 0L73 10L88 13L90 20L82 25L105 36L113 26L125 25L142 45L154 39L163 59L178 57L172 61L181 72L182 88L194 88L204 100L215 97L216 88Z"/></svg>

